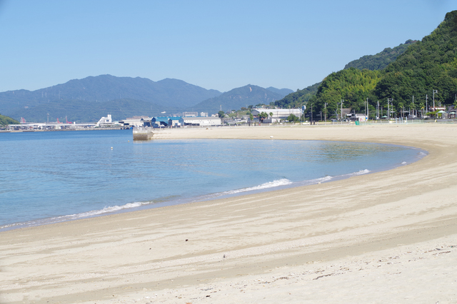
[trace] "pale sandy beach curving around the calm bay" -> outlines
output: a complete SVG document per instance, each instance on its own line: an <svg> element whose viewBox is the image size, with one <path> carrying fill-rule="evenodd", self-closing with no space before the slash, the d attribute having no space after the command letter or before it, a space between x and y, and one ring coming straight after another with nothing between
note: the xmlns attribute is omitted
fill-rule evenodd
<svg viewBox="0 0 457 304"><path fill-rule="evenodd" d="M457 303L456 124L196 128L154 140L271 136L428 156L341 181L1 232L0 303Z"/></svg>

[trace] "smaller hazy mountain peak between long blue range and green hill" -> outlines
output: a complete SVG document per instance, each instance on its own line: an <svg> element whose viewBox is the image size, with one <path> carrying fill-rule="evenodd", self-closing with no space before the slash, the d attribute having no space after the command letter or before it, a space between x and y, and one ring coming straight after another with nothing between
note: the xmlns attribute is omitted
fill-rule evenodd
<svg viewBox="0 0 457 304"><path fill-rule="evenodd" d="M206 99L201 103L188 108L188 111L204 111L209 113L218 113L219 111L231 111L241 107L248 108L248 105L272 103L283 98L283 95L274 93L260 86L248 84L241 88L221 94L220 96Z"/></svg>

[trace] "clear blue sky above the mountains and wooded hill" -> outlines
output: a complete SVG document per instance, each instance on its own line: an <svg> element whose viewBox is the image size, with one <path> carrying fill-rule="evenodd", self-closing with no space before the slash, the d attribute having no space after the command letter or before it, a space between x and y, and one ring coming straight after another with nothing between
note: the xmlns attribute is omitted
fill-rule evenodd
<svg viewBox="0 0 457 304"><path fill-rule="evenodd" d="M457 1L0 0L0 91L111 74L305 88L422 39Z"/></svg>

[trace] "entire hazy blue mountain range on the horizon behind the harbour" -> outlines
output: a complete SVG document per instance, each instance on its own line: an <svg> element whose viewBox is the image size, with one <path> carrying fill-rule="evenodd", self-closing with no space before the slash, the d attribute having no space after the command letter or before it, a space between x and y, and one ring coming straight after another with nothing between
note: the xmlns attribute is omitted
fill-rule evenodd
<svg viewBox="0 0 457 304"><path fill-rule="evenodd" d="M36 91L16 90L0 93L0 113L27 121L97 121L111 113L114 120L129 116L158 116L182 111L217 113L246 104L270 103L292 90L248 86L221 93L194 86L179 79L151 81L148 78L89 76ZM49 115L48 115L49 114ZM49 118L48 118L49 116Z"/></svg>

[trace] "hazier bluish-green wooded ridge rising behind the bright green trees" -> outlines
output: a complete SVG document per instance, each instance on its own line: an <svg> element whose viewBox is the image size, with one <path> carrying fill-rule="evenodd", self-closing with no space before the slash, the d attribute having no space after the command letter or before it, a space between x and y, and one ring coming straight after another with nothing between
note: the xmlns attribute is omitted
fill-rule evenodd
<svg viewBox="0 0 457 304"><path fill-rule="evenodd" d="M359 70L368 69L371 71L383 70L386 69L388 64L395 61L397 57L403 54L408 46L416 43L416 40L408 40L405 44L400 44L399 46L391 48L386 48L376 55L366 55L360 59L353 60L344 66L344 69L356 68Z"/></svg>

